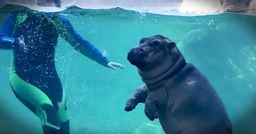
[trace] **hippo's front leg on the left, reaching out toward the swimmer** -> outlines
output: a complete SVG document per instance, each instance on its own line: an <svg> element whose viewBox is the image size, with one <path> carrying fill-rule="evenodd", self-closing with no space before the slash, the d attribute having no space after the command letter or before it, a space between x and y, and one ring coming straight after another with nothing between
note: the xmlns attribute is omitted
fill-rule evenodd
<svg viewBox="0 0 256 134"><path fill-rule="evenodd" d="M138 103L145 103L148 94L146 85L141 85L135 90L133 95L126 101L125 111L132 111Z"/></svg>

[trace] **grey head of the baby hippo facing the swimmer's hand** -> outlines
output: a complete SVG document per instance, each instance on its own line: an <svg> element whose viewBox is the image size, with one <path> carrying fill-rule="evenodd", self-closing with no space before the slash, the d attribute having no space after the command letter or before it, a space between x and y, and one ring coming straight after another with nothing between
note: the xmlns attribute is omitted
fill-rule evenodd
<svg viewBox="0 0 256 134"><path fill-rule="evenodd" d="M162 35L143 37L138 47L130 49L128 61L138 68L143 79L154 79L175 65L186 64L176 44Z"/></svg>

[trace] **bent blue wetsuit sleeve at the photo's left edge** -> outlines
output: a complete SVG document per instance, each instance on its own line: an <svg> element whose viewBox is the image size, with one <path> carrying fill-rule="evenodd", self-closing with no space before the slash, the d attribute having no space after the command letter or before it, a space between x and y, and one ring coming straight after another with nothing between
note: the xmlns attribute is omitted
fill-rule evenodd
<svg viewBox="0 0 256 134"><path fill-rule="evenodd" d="M16 14L10 14L3 22L0 30L0 49L13 49L18 44L18 38L11 37L16 22Z"/></svg>

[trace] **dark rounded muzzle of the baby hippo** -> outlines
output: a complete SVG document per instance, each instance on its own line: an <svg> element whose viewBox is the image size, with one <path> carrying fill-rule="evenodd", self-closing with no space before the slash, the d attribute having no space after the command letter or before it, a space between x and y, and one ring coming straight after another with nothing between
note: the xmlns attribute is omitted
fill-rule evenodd
<svg viewBox="0 0 256 134"><path fill-rule="evenodd" d="M130 64L135 65L139 69L146 65L146 60L148 53L143 49L130 49L127 54L127 59L130 61Z"/></svg>

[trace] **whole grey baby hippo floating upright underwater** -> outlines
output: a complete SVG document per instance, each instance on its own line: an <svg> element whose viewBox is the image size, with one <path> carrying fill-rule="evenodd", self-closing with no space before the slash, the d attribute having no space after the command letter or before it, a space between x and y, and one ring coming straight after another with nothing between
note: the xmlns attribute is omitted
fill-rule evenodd
<svg viewBox="0 0 256 134"><path fill-rule="evenodd" d="M145 103L146 116L158 118L166 134L232 134L221 98L173 41L162 35L142 38L127 59L145 85L128 99L125 111Z"/></svg>

